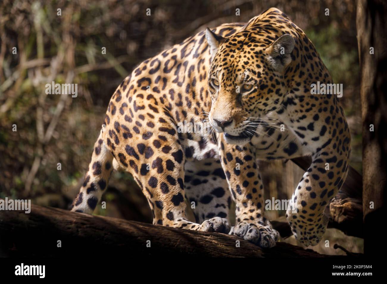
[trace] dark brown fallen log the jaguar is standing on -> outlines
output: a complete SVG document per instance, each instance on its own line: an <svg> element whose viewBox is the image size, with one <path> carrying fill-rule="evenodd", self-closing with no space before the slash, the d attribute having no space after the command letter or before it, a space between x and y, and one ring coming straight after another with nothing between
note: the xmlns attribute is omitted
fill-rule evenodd
<svg viewBox="0 0 387 284"><path fill-rule="evenodd" d="M328 257L287 243L262 250L238 236L31 207L29 214L0 211L0 257ZM62 247L57 247L58 241ZM151 247L147 247L149 241ZM236 241L240 241L240 247L236 247Z"/></svg>

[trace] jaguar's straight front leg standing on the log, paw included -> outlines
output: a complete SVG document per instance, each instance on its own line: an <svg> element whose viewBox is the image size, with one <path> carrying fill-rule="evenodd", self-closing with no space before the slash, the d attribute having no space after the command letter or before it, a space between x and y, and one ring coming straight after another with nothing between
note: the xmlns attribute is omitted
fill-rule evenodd
<svg viewBox="0 0 387 284"><path fill-rule="evenodd" d="M255 150L249 146L229 145L219 137L221 163L236 202L236 225L232 235L243 237L259 247L276 245L279 233L265 217L264 190L255 160Z"/></svg>

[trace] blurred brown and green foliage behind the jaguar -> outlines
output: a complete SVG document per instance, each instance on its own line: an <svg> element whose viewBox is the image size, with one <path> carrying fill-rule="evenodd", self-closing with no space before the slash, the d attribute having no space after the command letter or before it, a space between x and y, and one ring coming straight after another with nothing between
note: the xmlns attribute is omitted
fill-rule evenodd
<svg viewBox="0 0 387 284"><path fill-rule="evenodd" d="M361 172L354 4L351 0L1 1L0 197L67 207L88 167L110 97L135 65L207 26L246 22L270 7L281 9L306 32L334 82L343 84L340 100L353 138L351 165ZM148 8L151 16L146 15ZM235 15L236 8L240 16ZM12 53L14 47L17 54ZM78 84L76 98L45 94L46 83L68 80ZM282 162L272 165L277 172L265 171L268 182L284 167ZM281 183L272 187L276 192L270 194L287 193ZM126 173L113 174L103 199L114 206L95 214L151 220L146 199Z"/></svg>

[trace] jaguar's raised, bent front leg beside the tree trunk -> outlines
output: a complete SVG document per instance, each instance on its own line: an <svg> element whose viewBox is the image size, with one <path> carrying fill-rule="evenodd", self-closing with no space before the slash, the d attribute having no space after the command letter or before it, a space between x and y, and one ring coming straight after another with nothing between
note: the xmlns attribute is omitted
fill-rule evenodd
<svg viewBox="0 0 387 284"><path fill-rule="evenodd" d="M286 218L293 235L305 246L317 245L325 233L329 221L325 208L348 173L350 150L345 146L326 147L315 153L291 197L293 204L288 207Z"/></svg>

